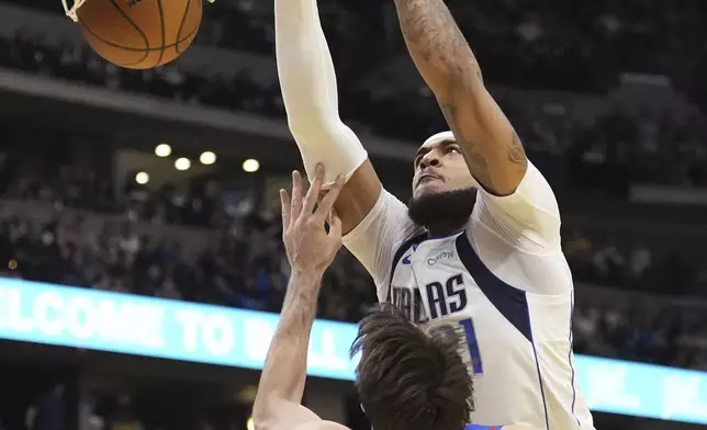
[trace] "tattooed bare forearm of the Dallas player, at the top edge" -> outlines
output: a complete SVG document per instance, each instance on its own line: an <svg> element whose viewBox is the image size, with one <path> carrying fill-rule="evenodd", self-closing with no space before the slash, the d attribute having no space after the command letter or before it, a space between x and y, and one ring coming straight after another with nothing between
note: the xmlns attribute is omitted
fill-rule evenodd
<svg viewBox="0 0 707 430"><path fill-rule="evenodd" d="M482 82L479 64L442 0L395 0L408 50L433 91ZM435 87L438 88L435 88Z"/></svg>

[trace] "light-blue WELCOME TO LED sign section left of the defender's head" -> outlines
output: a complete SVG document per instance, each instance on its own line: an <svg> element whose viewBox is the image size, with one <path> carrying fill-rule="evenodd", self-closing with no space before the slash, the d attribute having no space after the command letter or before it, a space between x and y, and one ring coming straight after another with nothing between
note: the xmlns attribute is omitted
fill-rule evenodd
<svg viewBox="0 0 707 430"><path fill-rule="evenodd" d="M0 278L0 338L262 369L278 315ZM351 324L317 320L307 372L352 378Z"/></svg>

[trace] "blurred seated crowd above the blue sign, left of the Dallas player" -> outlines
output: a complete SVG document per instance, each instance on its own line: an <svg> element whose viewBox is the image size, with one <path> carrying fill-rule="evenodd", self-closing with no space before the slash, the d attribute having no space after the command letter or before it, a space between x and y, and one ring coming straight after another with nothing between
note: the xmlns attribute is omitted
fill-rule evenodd
<svg viewBox="0 0 707 430"><path fill-rule="evenodd" d="M12 178L0 203L0 261L10 261L9 274L280 310L289 278L281 227L268 211L256 210L251 193L228 192L215 180L155 191L132 177L126 182L115 196L96 174L69 167L56 177ZM36 206L11 204L18 201ZM36 217L41 212L46 215ZM188 229L153 234L153 227L172 225ZM357 320L361 306L375 299L363 269L346 252L325 284L319 314L327 318Z"/></svg>

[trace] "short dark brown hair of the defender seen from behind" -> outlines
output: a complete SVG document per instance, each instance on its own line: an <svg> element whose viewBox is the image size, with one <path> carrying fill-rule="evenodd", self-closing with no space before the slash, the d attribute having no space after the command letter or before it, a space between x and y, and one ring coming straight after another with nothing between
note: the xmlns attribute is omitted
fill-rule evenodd
<svg viewBox="0 0 707 430"><path fill-rule="evenodd" d="M359 322L356 387L373 430L460 430L473 385L453 337L427 333L390 303Z"/></svg>

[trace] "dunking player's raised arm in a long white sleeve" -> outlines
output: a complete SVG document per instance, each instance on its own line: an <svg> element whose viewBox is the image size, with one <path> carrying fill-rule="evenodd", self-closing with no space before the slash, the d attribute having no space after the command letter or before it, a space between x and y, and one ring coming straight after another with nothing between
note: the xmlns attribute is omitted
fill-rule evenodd
<svg viewBox="0 0 707 430"><path fill-rule="evenodd" d="M310 179L319 162L326 183L346 177L336 210L347 234L373 208L382 188L360 140L339 117L336 73L316 0L276 0L274 29L290 131Z"/></svg>

